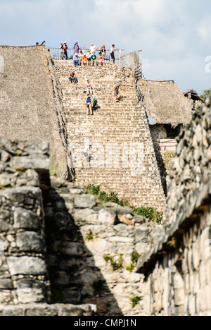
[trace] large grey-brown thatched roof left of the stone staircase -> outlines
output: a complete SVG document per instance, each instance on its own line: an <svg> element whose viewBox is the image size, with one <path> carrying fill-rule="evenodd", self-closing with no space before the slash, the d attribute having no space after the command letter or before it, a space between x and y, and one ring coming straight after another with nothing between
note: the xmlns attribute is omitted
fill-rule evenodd
<svg viewBox="0 0 211 330"><path fill-rule="evenodd" d="M49 141L53 171L67 176L65 115L51 56L44 47L4 46L0 56L0 135Z"/></svg>

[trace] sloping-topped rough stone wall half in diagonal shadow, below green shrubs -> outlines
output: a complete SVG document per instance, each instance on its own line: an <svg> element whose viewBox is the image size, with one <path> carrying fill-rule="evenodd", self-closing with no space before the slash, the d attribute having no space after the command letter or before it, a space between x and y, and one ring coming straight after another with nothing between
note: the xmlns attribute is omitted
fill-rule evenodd
<svg viewBox="0 0 211 330"><path fill-rule="evenodd" d="M129 207L97 203L82 186L58 178L51 184L45 220L53 302L91 303L98 315L139 315L143 306L133 308L130 299L142 296L144 276L134 271L132 254L145 252L160 226Z"/></svg>

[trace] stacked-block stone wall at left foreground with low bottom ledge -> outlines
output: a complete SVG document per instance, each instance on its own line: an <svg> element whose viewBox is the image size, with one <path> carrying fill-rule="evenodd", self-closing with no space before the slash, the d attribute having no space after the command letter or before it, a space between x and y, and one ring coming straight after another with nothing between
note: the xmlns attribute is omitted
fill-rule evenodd
<svg viewBox="0 0 211 330"><path fill-rule="evenodd" d="M49 305L44 201L49 143L0 138L0 314L91 315L91 305ZM3 248L3 250L2 250Z"/></svg>

